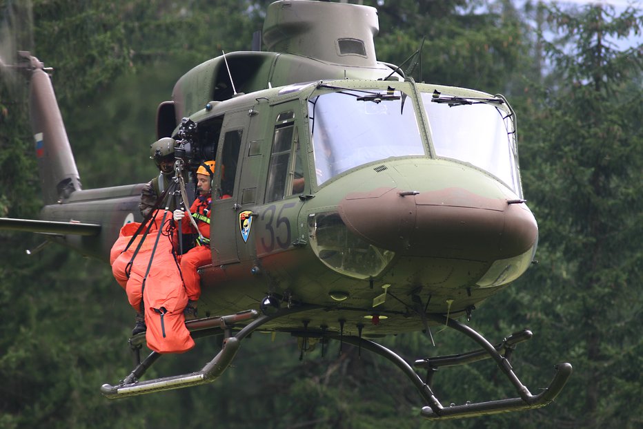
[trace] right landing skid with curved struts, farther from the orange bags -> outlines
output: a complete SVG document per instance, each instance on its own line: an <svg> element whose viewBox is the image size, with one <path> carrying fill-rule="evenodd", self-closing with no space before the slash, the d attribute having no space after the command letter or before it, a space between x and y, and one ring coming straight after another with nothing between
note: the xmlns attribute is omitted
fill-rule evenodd
<svg viewBox="0 0 643 429"><path fill-rule="evenodd" d="M484 336L473 330L471 327L455 321L453 318L446 318L435 314L428 315L428 317L433 321L442 323L462 332L481 345L482 349L463 354L437 356L435 358L419 359L415 361L416 368L426 368L428 370L428 375L425 381L420 378L417 372L415 372L415 370L413 370L413 368L404 359L402 359L401 356L383 345L357 336L339 336L333 334L327 336L330 339L342 341L355 347L368 350L369 352L379 354L379 356L382 356L394 363L400 370L402 370L402 372L404 372L411 383L413 383L422 399L428 404L422 408L420 414L422 417L430 420L462 419L464 417L477 417L486 414L498 414L502 412L530 410L544 407L558 396L571 375L571 364L560 363L559 365L555 365L555 374L551 383L549 383L548 388L544 389L540 394L533 395L514 374L511 363L509 363L508 360L509 355L515 349L515 345L517 343L531 339L531 331L523 330L521 332L516 332L494 346L491 345ZM437 368L465 365L467 363L490 358L496 361L500 370L513 384L515 390L517 390L519 397L477 403L467 402L464 405L458 406L442 406L442 403L440 403L437 396L433 393L433 390L431 390L432 376L433 373L437 371Z"/></svg>

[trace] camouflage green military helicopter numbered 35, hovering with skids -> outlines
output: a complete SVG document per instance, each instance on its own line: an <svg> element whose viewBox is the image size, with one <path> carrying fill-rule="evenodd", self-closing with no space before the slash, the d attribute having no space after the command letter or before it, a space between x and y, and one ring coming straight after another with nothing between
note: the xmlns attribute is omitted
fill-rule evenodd
<svg viewBox="0 0 643 429"><path fill-rule="evenodd" d="M145 381L161 354L138 357L123 381L101 387L106 397L215 381L257 330L299 336L302 347L333 339L383 356L417 388L428 419L539 408L560 393L569 363L535 395L513 372L510 354L530 331L492 345L457 321L521 276L537 247L514 111L502 95L419 84L377 61L378 31L375 8L276 1L255 50L210 59L179 79L158 108L157 135L175 138L190 173L217 162L212 263L199 270L204 317L186 325L195 339L223 334L223 346L197 372ZM29 53L17 68L30 80L45 205L41 220L0 227L46 233L107 260L121 227L142 220L144 184L81 189L46 69ZM375 342L431 335L435 325L480 349L412 366ZM132 350L142 343L130 339ZM443 406L435 371L482 359L497 363L517 397Z"/></svg>

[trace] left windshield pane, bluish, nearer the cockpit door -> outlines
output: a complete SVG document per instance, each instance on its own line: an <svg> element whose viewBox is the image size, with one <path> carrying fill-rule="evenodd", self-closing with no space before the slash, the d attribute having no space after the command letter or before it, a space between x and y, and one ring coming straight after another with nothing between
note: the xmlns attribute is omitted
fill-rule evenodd
<svg viewBox="0 0 643 429"><path fill-rule="evenodd" d="M425 155L413 103L405 106L406 98L390 89L342 89L311 97L317 184L368 162Z"/></svg>

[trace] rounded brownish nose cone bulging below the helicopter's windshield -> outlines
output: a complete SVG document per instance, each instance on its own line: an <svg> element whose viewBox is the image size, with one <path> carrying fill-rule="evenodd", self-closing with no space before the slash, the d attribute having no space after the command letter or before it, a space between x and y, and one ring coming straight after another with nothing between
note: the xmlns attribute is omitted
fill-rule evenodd
<svg viewBox="0 0 643 429"><path fill-rule="evenodd" d="M348 194L339 213L353 233L402 256L512 258L531 249L538 233L522 200L485 198L461 188Z"/></svg>

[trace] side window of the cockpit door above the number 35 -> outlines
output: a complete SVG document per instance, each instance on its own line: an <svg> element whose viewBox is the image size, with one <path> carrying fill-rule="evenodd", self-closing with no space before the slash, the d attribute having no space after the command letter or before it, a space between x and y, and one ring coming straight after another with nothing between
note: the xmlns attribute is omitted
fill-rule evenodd
<svg viewBox="0 0 643 429"><path fill-rule="evenodd" d="M268 169L266 202L283 200L304 190L304 173L293 111L279 113Z"/></svg>

